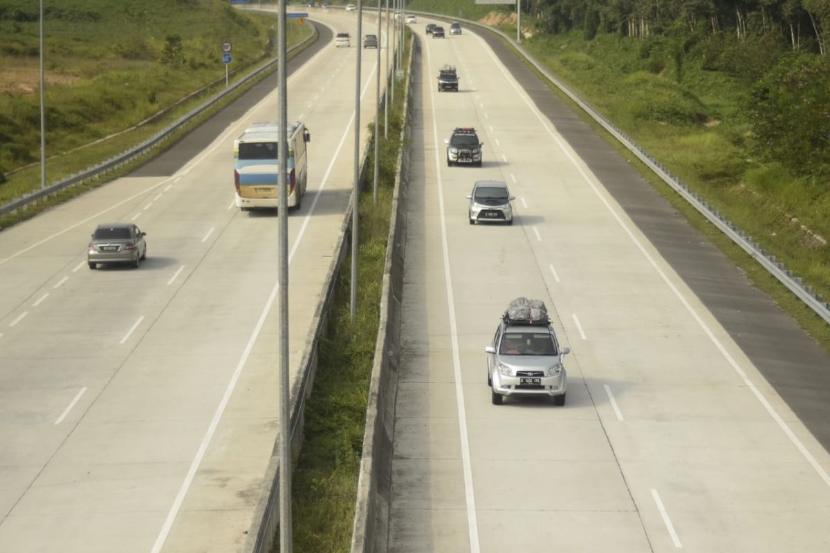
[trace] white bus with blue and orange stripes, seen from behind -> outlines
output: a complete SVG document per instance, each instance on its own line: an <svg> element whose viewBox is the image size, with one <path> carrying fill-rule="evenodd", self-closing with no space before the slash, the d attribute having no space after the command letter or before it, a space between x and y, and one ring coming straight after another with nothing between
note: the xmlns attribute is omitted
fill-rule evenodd
<svg viewBox="0 0 830 553"><path fill-rule="evenodd" d="M308 178L305 144L311 135L300 121L288 124L288 160L285 165L288 206L300 207ZM279 127L276 123L255 123L233 142L233 184L237 189L237 207L243 211L276 209L280 162Z"/></svg>

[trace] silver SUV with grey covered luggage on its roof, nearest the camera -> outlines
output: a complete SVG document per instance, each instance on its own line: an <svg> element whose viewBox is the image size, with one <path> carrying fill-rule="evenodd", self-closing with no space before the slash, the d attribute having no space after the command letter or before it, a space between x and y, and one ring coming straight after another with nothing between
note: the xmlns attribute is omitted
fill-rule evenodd
<svg viewBox="0 0 830 553"><path fill-rule="evenodd" d="M552 397L554 405L565 405L568 376L563 361L570 348L559 347L544 302L510 302L484 351L493 405L501 405L505 395Z"/></svg>

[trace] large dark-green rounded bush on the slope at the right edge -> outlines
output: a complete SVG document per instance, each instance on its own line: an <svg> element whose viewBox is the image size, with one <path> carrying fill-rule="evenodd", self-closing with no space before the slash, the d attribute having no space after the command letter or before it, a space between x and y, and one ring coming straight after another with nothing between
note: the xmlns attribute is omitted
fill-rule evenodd
<svg viewBox="0 0 830 553"><path fill-rule="evenodd" d="M798 174L830 175L830 61L783 56L752 87L745 109L770 158Z"/></svg>

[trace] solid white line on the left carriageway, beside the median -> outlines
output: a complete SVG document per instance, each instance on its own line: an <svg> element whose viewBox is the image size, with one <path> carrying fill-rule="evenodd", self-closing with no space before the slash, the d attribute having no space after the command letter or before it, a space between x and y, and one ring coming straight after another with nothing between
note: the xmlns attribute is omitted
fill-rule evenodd
<svg viewBox="0 0 830 553"><path fill-rule="evenodd" d="M318 54L318 56L320 56L320 54ZM312 58L312 60L313 59L314 58ZM303 65L303 67L307 67L308 63L309 62L306 62L306 65ZM374 68L377 69L377 62L375 63ZM369 85L374 84L374 81L371 78L372 75L374 75L374 69L372 71L369 71L369 75L367 75L366 77L366 85L364 86L363 92L360 94L361 100L366 94L366 91L369 90ZM349 119L349 123L346 124L346 129L343 132L343 137L340 138L340 143L338 144L337 149L334 151L334 154L332 155L329 167L326 169L325 175L323 176L323 179L320 181L320 188L318 188L317 192L315 193L314 200L311 201L309 212L305 216L303 224L302 226L300 226L300 231L297 233L297 236L294 240L294 245L291 247L291 250L288 253L289 264L291 264L291 260L294 258L294 254L297 248L300 246L300 241L302 240L303 235L305 235L305 229L308 227L309 222L311 221L311 216L314 214L315 206L317 206L317 201L320 200L320 194L321 192L323 192L325 184L329 180L329 175L332 171L332 168L334 167L334 162L337 160L340 150L343 148L343 144L350 134L349 131L352 130L354 126L354 115L355 113L353 109L351 119ZM251 334L251 338L248 340L247 346L245 347L245 351L242 352L242 357L240 357L239 362L237 363L237 368L233 371L231 381L228 382L227 388L225 389L225 395L222 396L222 400L219 402L219 405L217 405L217 409L216 412L213 414L211 424L208 425L207 431L205 432L204 438L202 439L202 444L199 445L199 449L196 452L196 456L190 463L190 468L188 468L188 473L185 475L181 487L178 488L178 493L176 494L176 498L173 500L173 505L170 507L170 510L167 513L167 517L165 517L164 519L164 524L162 525L162 528L159 531L159 536L156 537L156 541L153 545L153 549L150 550L150 553L159 553L161 551L161 548L164 547L164 542L167 541L167 536L170 530L173 528L173 521L175 521L176 517L178 517L178 511L182 508L184 497L188 495L188 490L190 489L190 485L193 483L193 478L196 477L198 468L199 466L201 466L202 460L205 454L207 453L207 446L210 445L213 439L213 434L216 433L219 421L222 420L222 414L225 412L227 403L231 399L233 390L237 386L237 381L239 380L239 376L242 374L242 369L245 367L247 359L251 355L251 350L253 349L254 343L256 342L256 338L259 337L262 326L265 324L265 319L268 313L271 312L271 305L274 303L276 299L276 293L279 290L279 286L280 283L279 281L277 281L276 284L274 284L273 289L271 289L271 295L268 296L268 300L266 301L265 306L262 308L262 313L260 314L259 320L256 322L254 332Z"/></svg>

